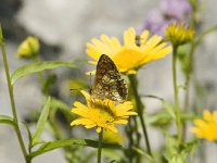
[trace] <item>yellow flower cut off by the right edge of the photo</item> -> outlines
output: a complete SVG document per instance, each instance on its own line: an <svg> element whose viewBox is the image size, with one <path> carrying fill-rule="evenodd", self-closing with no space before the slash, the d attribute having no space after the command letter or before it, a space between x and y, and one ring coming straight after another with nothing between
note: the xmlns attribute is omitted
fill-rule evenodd
<svg viewBox="0 0 217 163"><path fill-rule="evenodd" d="M194 120L195 127L191 128L197 137L204 138L210 141L217 141L217 111L210 113L205 110L203 118Z"/></svg>

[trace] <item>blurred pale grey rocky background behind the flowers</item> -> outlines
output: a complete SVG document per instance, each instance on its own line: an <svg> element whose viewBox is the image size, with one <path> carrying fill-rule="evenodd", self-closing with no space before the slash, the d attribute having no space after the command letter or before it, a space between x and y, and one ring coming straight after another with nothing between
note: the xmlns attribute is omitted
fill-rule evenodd
<svg viewBox="0 0 217 163"><path fill-rule="evenodd" d="M142 29L151 13L161 8L163 0L0 0L0 23L5 38L8 60L11 73L17 67L29 63L28 60L18 60L15 57L17 47L28 35L37 36L41 43L40 58L43 60L63 60L77 62L82 68L58 68L52 72L56 83L52 93L63 99L68 105L75 98L69 89L76 87L71 80L82 80L89 85L89 77L85 72L93 70L82 60L90 59L86 54L86 43L101 34L116 36L123 39L123 32L135 27L138 33ZM217 24L217 1L201 0L200 29ZM157 20L157 16L156 16ZM208 35L196 49L195 70L196 78L203 92L200 108L217 109L217 33ZM141 93L155 95L173 101L173 76L170 55L163 60L145 65L139 71L139 87ZM20 122L29 120L33 111L40 109L42 95L37 75L30 75L18 80L14 86L14 96ZM8 95L7 79L0 57L0 113L12 115ZM180 78L182 80L182 78ZM152 113L161 109L161 103L153 99L144 99L146 112ZM69 126L69 124L68 124ZM27 133L22 127L23 135ZM173 130L171 130L173 131ZM189 131L189 130L188 130ZM156 129L149 128L153 149L163 143L163 135ZM43 139L51 139L49 133L42 135ZM217 147L205 142L207 149L203 150L205 161L217 161ZM205 152L205 153L204 153ZM202 153L196 153L197 155ZM23 155L18 141L12 128L0 125L0 162L23 163ZM62 150L40 155L34 163L65 163ZM200 162L195 160L195 162Z"/></svg>

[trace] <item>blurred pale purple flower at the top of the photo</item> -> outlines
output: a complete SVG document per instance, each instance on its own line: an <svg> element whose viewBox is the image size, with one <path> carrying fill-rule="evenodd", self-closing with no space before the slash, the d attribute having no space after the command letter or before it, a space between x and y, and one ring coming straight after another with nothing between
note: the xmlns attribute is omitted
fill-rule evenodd
<svg viewBox="0 0 217 163"><path fill-rule="evenodd" d="M149 29L154 34L164 36L165 28L170 22L188 22L191 14L191 5L187 0L162 0L159 9L154 9L148 14L148 18L140 29Z"/></svg>

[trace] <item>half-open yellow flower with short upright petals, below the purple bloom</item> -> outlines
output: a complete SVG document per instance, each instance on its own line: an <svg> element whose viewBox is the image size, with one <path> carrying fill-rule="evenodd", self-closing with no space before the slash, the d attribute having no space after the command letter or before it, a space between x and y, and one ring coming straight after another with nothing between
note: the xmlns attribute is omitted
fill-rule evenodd
<svg viewBox="0 0 217 163"><path fill-rule="evenodd" d="M173 45L180 46L193 39L194 30L184 23L171 23L167 26L165 35Z"/></svg>

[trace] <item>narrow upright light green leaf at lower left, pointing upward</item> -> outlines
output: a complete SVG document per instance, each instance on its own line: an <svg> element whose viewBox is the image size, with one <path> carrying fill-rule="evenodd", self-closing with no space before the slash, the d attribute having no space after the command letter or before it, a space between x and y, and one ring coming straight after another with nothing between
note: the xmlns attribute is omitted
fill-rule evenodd
<svg viewBox="0 0 217 163"><path fill-rule="evenodd" d="M48 100L46 101L46 104L43 105L42 112L40 114L40 117L37 122L37 127L36 127L36 131L33 136L33 145L36 145L39 141L39 138L41 136L41 133L43 131L44 125L46 125L46 121L48 118L49 115L49 111L50 111L50 102L51 102L51 98L48 97Z"/></svg>

